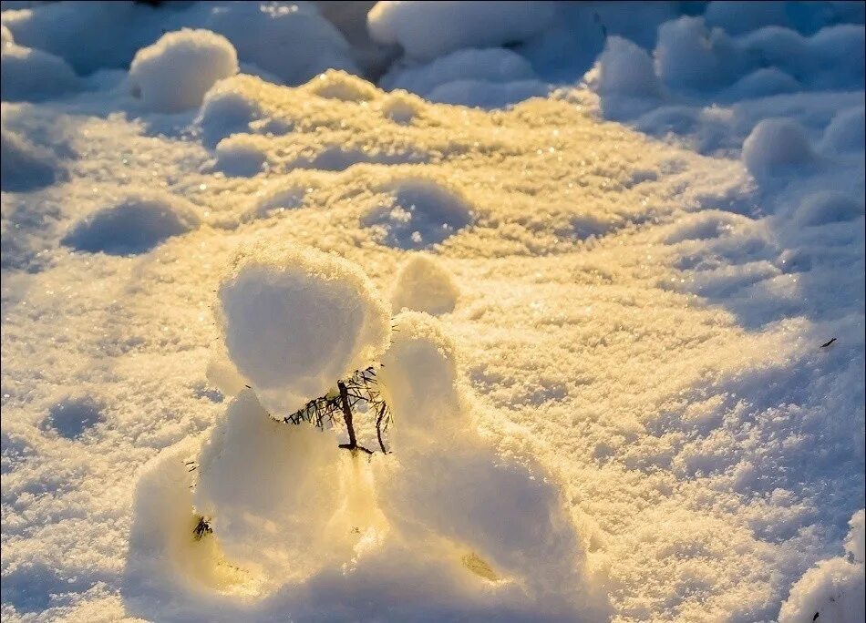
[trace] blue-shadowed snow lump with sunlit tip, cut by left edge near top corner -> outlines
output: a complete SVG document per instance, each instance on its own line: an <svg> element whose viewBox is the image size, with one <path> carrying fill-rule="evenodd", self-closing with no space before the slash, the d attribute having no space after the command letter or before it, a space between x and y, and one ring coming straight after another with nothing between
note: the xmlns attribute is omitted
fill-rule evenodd
<svg viewBox="0 0 866 623"><path fill-rule="evenodd" d="M80 87L65 60L42 50L4 43L0 50L0 92L4 101L43 101Z"/></svg>

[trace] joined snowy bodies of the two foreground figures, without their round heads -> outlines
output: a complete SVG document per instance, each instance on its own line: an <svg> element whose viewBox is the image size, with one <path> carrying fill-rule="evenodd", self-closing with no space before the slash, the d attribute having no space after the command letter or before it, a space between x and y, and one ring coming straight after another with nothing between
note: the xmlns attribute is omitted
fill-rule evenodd
<svg viewBox="0 0 866 623"><path fill-rule="evenodd" d="M274 420L242 390L197 458L198 440L184 441L140 476L131 611L179 621L610 617L552 476L479 434L435 319L395 322L378 375L394 453L361 460L333 432ZM199 517L210 531L196 535Z"/></svg>

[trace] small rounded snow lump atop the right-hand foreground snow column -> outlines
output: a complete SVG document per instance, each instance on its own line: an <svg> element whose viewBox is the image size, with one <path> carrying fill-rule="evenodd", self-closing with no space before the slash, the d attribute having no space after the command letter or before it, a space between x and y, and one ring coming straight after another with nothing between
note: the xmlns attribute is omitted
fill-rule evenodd
<svg viewBox="0 0 866 623"><path fill-rule="evenodd" d="M397 273L391 307L438 315L453 311L458 298L450 273L436 258L422 253L409 258Z"/></svg>

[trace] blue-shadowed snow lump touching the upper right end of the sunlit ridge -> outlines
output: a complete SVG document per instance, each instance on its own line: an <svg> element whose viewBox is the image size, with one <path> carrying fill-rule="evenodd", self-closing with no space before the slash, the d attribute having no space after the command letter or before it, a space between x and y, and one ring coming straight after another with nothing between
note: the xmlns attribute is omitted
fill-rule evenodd
<svg viewBox="0 0 866 623"><path fill-rule="evenodd" d="M609 36L598 58L598 85L601 95L654 97L658 78L653 60L646 51L620 36Z"/></svg>

